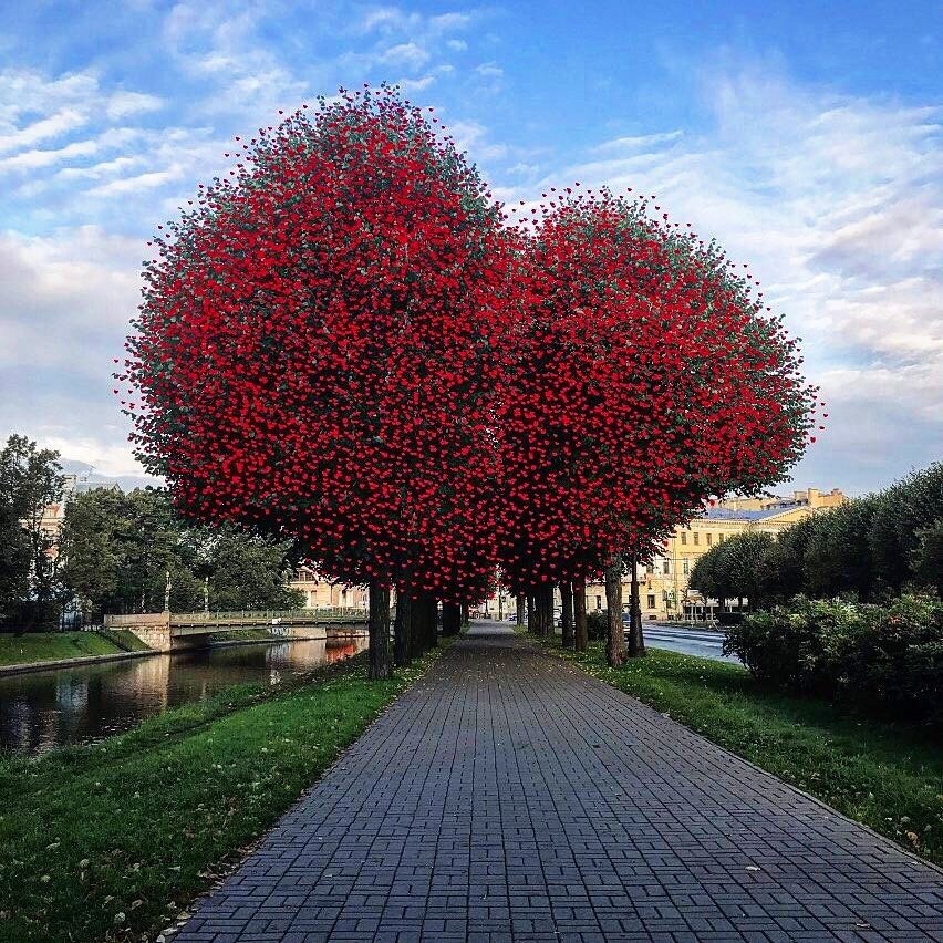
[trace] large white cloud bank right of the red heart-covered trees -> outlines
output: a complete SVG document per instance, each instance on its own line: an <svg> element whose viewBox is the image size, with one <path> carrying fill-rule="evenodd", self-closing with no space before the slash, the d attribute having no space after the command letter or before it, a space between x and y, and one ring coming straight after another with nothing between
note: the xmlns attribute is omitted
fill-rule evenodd
<svg viewBox="0 0 943 943"><path fill-rule="evenodd" d="M833 404L797 474L830 467L837 478L858 460L862 436L892 468L895 452L874 442L897 443L910 423L921 436L897 454L918 464L939 457L939 112L816 93L754 70L707 75L704 104L714 124L701 135L605 142L541 183L655 194L673 219L749 260L767 302L804 338L810 380Z"/></svg>

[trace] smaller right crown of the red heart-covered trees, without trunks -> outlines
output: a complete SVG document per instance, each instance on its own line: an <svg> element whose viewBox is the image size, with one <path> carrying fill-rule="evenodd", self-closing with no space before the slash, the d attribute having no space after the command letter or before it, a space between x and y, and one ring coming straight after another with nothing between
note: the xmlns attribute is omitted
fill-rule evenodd
<svg viewBox="0 0 943 943"><path fill-rule="evenodd" d="M515 588L649 558L804 448L814 391L794 343L715 247L646 208L568 190L537 215L496 424Z"/></svg>

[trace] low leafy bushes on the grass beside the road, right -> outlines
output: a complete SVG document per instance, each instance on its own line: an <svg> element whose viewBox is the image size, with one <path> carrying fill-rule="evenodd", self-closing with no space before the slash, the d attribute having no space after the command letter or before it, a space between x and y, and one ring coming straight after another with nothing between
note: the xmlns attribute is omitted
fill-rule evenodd
<svg viewBox="0 0 943 943"><path fill-rule="evenodd" d="M766 684L854 702L885 716L943 724L943 603L904 594L887 605L797 597L727 630Z"/></svg>

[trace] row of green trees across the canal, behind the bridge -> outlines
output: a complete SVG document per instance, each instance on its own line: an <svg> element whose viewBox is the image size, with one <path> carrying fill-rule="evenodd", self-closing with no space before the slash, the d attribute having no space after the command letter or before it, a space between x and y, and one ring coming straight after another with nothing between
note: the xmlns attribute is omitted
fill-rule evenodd
<svg viewBox="0 0 943 943"><path fill-rule="evenodd" d="M11 436L0 452L0 625L49 628L63 609L105 612L292 609L292 547L185 520L165 490L64 495L58 454ZM43 510L66 500L61 528Z"/></svg>

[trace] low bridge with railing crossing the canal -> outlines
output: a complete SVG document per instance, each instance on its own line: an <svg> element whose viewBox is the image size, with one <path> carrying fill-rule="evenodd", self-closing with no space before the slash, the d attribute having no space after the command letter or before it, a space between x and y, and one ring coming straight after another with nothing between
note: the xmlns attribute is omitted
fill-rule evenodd
<svg viewBox="0 0 943 943"><path fill-rule="evenodd" d="M105 629L126 629L155 652L206 644L206 636L240 629L267 629L286 639L325 639L366 629L363 609L299 609L288 612L142 612L106 615Z"/></svg>

